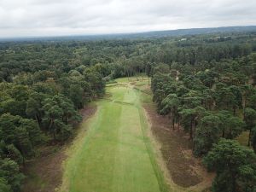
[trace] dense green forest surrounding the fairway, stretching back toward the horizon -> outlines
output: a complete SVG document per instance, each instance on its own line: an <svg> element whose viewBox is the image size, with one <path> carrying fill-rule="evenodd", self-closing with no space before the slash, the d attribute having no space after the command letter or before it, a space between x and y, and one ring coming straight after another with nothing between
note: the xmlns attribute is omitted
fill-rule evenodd
<svg viewBox="0 0 256 192"><path fill-rule="evenodd" d="M256 32L1 43L0 190L20 191L26 160L66 143L106 83L140 73L216 172L212 191L256 191ZM244 131L247 146L235 141Z"/></svg>

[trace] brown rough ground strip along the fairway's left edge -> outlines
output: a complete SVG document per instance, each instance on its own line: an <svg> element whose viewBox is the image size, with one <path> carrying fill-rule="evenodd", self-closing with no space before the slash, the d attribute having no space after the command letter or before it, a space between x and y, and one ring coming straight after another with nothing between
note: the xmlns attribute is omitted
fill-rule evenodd
<svg viewBox="0 0 256 192"><path fill-rule="evenodd" d="M96 113L96 106L90 105L80 110L80 113L86 120ZM60 186L63 173L62 161L67 158L65 149L70 143L71 141L62 146L44 146L39 149L40 154L37 158L26 162L23 192L54 192Z"/></svg>

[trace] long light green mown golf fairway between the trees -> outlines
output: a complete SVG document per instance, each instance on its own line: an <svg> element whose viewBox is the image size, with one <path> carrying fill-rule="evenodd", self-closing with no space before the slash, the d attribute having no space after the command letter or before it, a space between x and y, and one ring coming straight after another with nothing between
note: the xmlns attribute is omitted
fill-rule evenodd
<svg viewBox="0 0 256 192"><path fill-rule="evenodd" d="M166 192L148 137L148 122L130 84L107 88L97 112L82 126L64 165L61 191ZM83 127L82 127L83 128Z"/></svg>

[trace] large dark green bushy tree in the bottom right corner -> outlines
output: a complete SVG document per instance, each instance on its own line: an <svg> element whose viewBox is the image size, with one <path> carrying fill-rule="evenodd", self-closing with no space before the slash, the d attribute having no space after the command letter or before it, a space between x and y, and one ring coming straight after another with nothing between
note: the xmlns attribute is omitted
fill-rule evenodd
<svg viewBox="0 0 256 192"><path fill-rule="evenodd" d="M256 189L256 155L235 141L221 139L203 159L209 171L217 172L213 192L253 192Z"/></svg>

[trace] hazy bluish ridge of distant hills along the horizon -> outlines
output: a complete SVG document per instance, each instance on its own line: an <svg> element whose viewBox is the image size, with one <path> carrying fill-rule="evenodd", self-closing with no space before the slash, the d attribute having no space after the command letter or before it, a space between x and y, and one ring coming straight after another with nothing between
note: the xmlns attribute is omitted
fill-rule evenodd
<svg viewBox="0 0 256 192"><path fill-rule="evenodd" d="M9 41L68 41L68 40L103 40L122 38L164 38L185 35L228 33L228 32L256 32L256 26L222 26L212 28L191 28L155 32L119 33L102 35L79 35L62 37L37 37L37 38L0 38L0 42Z"/></svg>

